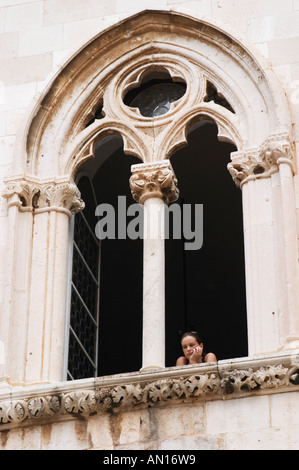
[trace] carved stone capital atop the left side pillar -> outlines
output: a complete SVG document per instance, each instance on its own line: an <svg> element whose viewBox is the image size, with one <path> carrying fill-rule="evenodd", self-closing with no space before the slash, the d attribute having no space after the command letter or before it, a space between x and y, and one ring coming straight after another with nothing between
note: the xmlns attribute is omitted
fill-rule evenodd
<svg viewBox="0 0 299 470"><path fill-rule="evenodd" d="M7 180L2 196L8 207L17 205L20 211L35 213L57 210L69 216L84 208L80 192L71 180L36 182L29 179Z"/></svg>

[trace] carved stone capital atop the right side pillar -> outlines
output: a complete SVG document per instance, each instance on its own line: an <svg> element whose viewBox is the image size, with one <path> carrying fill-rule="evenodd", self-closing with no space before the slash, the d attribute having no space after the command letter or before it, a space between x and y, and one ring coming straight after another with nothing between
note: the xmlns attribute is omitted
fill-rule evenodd
<svg viewBox="0 0 299 470"><path fill-rule="evenodd" d="M293 149L286 138L270 137L260 148L235 152L227 168L237 186L245 181L267 178L281 163L294 165Z"/></svg>

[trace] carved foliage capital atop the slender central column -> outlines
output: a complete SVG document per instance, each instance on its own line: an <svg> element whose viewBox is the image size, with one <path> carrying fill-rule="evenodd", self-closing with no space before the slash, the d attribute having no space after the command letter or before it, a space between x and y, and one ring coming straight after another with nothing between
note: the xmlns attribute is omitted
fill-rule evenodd
<svg viewBox="0 0 299 470"><path fill-rule="evenodd" d="M130 187L135 201L143 204L150 197L158 197L169 204L177 200L177 179L169 160L132 165L131 171Z"/></svg>

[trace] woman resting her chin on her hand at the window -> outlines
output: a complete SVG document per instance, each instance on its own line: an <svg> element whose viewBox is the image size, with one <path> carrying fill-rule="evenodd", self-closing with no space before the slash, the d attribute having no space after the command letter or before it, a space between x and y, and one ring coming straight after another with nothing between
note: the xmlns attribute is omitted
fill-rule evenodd
<svg viewBox="0 0 299 470"><path fill-rule="evenodd" d="M184 356L177 359L177 366L200 364L202 362L217 362L214 353L203 353L203 342L196 331L187 331L181 337L181 346Z"/></svg>

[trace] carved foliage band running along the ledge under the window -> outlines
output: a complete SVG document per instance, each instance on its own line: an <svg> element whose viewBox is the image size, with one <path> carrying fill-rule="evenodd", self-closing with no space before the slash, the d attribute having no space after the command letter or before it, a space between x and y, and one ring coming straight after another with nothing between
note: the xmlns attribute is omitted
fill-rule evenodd
<svg viewBox="0 0 299 470"><path fill-rule="evenodd" d="M112 408L136 405L154 406L173 400L211 400L237 398L254 393L286 391L299 385L299 363L284 366L264 365L257 369L229 369L220 373L211 367L198 369L187 376L147 382L56 392L0 403L0 426L34 424L39 418L58 419L69 416L90 416Z"/></svg>

